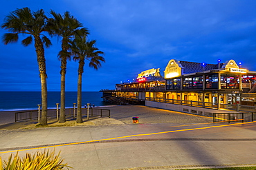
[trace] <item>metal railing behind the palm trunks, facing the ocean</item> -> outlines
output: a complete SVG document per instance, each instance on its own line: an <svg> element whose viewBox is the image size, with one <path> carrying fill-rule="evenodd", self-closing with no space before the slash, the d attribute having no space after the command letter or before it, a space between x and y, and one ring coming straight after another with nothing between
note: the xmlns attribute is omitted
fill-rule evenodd
<svg viewBox="0 0 256 170"><path fill-rule="evenodd" d="M41 110L40 110L41 111ZM110 110L109 109L98 109L98 108L91 108L89 109L91 112L91 116L100 116L100 117L109 117L110 118ZM58 113L58 115L57 115ZM77 116L76 109L73 108L66 108L65 109L65 115L66 117ZM87 109L82 108L82 115L87 115ZM60 117L60 109L48 109L47 110L47 118ZM41 118L41 115L40 115ZM15 113L15 122L22 121L22 120L32 120L37 119L38 120L38 110L29 110L29 111L19 111Z"/></svg>

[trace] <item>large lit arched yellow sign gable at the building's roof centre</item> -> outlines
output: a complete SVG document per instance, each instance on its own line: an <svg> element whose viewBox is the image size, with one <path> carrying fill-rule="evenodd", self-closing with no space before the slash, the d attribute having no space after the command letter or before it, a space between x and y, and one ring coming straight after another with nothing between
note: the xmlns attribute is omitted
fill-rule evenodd
<svg viewBox="0 0 256 170"><path fill-rule="evenodd" d="M172 59L169 61L167 66L165 67L165 78L172 78L176 76L181 76L181 64L178 61Z"/></svg>

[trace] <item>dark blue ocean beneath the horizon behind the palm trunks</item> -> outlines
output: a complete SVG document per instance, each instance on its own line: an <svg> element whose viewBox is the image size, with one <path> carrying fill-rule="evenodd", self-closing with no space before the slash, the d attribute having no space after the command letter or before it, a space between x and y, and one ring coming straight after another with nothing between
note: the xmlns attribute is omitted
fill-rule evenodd
<svg viewBox="0 0 256 170"><path fill-rule="evenodd" d="M86 103L109 105L101 96L102 92L82 92L82 107ZM60 92L48 92L47 99L48 109L55 109L56 103L60 103ZM66 92L66 107L73 107L73 103L77 103L77 92ZM41 92L0 92L0 111L37 109L37 105L41 105Z"/></svg>

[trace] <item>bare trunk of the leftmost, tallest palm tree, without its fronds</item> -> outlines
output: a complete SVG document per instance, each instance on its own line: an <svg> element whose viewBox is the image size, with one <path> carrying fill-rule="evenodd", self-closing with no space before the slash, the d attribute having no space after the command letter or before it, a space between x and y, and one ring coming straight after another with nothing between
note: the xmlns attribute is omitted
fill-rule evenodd
<svg viewBox="0 0 256 170"><path fill-rule="evenodd" d="M35 51L37 53L37 63L39 66L42 93L42 118L40 123L42 125L47 125L46 59L44 57L44 45L39 36L35 36Z"/></svg>

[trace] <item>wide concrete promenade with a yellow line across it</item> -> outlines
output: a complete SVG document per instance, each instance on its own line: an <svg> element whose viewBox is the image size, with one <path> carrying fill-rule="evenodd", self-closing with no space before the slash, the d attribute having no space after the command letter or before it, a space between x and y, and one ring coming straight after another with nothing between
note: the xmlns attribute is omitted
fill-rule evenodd
<svg viewBox="0 0 256 170"><path fill-rule="evenodd" d="M212 124L212 118L143 106L108 109L110 119L90 125L0 126L0 156L7 160L16 150L24 156L50 148L61 151L73 169L256 167L255 123ZM132 124L133 116L139 124Z"/></svg>

